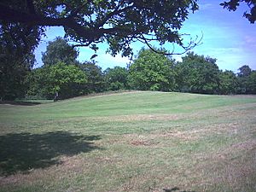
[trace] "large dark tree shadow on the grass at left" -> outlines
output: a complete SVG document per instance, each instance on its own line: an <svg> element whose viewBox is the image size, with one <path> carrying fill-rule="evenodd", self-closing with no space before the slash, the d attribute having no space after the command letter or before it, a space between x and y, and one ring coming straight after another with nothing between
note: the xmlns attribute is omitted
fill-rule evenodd
<svg viewBox="0 0 256 192"><path fill-rule="evenodd" d="M28 173L35 168L61 164L60 155L73 156L97 149L100 136L83 136L67 131L44 134L15 133L0 136L0 175Z"/></svg>

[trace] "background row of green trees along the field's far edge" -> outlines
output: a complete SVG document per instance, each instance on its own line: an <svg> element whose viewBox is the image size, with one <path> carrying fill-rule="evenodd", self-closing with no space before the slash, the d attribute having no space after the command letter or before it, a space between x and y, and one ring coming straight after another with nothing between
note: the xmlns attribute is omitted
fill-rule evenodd
<svg viewBox="0 0 256 192"><path fill-rule="evenodd" d="M159 50L162 51L162 50ZM43 53L42 67L32 68L32 61L12 70L6 65L1 81L1 97L59 99L108 90L158 90L201 94L255 94L256 71L247 65L238 73L219 70L216 59L189 52L182 61L141 49L127 67L102 71L95 61L79 62L79 52L56 38ZM15 66L16 67L16 66ZM12 71L12 73L8 73ZM15 72L15 73L14 73Z"/></svg>

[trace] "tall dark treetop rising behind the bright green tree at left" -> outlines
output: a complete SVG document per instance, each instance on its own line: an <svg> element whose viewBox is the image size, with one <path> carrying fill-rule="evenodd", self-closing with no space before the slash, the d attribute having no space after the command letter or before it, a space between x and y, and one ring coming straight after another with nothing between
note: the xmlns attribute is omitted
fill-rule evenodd
<svg viewBox="0 0 256 192"><path fill-rule="evenodd" d="M54 65L58 62L74 64L77 62L78 55L78 51L67 44L67 40L57 37L54 41L49 42L43 53L42 61L44 65Z"/></svg>

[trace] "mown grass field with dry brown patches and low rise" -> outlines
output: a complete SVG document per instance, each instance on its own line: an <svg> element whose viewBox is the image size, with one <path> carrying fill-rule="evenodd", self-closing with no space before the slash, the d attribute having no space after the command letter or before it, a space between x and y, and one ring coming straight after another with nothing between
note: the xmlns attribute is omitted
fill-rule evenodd
<svg viewBox="0 0 256 192"><path fill-rule="evenodd" d="M256 96L0 105L0 191L256 191Z"/></svg>

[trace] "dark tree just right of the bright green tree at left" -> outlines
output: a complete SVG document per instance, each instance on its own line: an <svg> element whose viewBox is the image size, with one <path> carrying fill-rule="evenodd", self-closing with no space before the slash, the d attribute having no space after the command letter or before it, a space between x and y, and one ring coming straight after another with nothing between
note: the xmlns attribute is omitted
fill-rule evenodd
<svg viewBox="0 0 256 192"><path fill-rule="evenodd" d="M84 87L87 93L102 92L105 90L104 76L102 68L97 66L95 62L84 62L79 64L79 68L85 73L88 82Z"/></svg>

